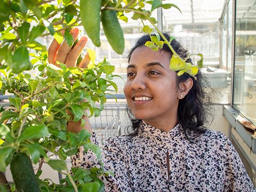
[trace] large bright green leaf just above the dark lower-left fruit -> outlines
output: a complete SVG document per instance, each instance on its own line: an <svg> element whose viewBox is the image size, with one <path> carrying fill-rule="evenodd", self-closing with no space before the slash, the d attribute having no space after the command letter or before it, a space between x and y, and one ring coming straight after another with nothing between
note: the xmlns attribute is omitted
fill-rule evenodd
<svg viewBox="0 0 256 192"><path fill-rule="evenodd" d="M26 139L35 139L47 136L49 136L49 131L46 125L31 125L26 127L25 131L17 139L17 142L20 143Z"/></svg>

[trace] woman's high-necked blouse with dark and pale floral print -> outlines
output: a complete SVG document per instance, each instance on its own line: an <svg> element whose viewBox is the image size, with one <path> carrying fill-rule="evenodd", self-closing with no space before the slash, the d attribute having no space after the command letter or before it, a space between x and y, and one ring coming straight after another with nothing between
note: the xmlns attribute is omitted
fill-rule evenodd
<svg viewBox="0 0 256 192"><path fill-rule="evenodd" d="M91 141L97 143L96 134ZM137 136L108 139L101 158L115 172L100 178L105 191L256 191L234 146L212 130L188 141L179 124L164 132L142 121ZM72 165L101 167L82 147Z"/></svg>

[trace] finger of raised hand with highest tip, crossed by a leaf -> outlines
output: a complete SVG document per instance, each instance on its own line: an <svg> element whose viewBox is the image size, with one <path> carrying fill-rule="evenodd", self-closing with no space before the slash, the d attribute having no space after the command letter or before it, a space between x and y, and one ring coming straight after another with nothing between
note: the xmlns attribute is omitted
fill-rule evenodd
<svg viewBox="0 0 256 192"><path fill-rule="evenodd" d="M75 40L79 34L79 29L78 28L71 29L70 34L73 36L73 39ZM66 41L63 41L62 45L58 49L56 61L65 63L70 50L71 50L71 47L68 46ZM59 65L56 65L56 66L59 67Z"/></svg>

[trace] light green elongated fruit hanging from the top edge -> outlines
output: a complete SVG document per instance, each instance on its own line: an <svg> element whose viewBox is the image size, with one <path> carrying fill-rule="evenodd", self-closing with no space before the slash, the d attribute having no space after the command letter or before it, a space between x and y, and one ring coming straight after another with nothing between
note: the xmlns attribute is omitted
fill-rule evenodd
<svg viewBox="0 0 256 192"><path fill-rule="evenodd" d="M97 47L100 46L100 8L102 0L80 0L80 17L84 30Z"/></svg>

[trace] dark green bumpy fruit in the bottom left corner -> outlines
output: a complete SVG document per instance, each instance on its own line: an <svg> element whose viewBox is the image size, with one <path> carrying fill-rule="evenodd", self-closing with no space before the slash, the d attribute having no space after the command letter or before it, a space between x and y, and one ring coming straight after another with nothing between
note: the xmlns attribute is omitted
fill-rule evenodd
<svg viewBox="0 0 256 192"><path fill-rule="evenodd" d="M31 160L25 153L15 154L10 165L17 192L40 192Z"/></svg>

